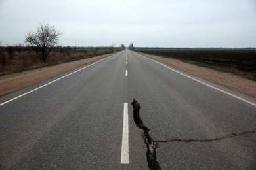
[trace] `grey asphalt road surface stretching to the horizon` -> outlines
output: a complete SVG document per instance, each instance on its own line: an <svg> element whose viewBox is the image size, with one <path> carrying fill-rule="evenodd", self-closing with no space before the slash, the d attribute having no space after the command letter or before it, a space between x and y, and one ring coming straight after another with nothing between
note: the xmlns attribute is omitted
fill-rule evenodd
<svg viewBox="0 0 256 170"><path fill-rule="evenodd" d="M65 75L0 98L0 169L148 169L134 98L154 140L212 139L256 128L256 99L196 78L231 95L223 93L129 50ZM256 169L256 133L158 143L156 156L161 169Z"/></svg>

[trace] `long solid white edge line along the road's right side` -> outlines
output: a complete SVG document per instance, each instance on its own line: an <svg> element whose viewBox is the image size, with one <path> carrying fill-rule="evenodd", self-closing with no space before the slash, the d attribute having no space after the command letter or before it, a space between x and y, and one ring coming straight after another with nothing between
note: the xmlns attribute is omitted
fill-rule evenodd
<svg viewBox="0 0 256 170"><path fill-rule="evenodd" d="M139 54L139 55L142 56L141 54ZM142 56L142 57L143 57L143 58L146 58L145 56ZM162 65L163 67L166 67L167 69L171 69L170 67L168 67L168 66L166 66L166 65L164 65L163 63L160 63L160 62L158 62L158 61L155 61L154 59L151 59L151 58L146 58L146 59L150 59L151 61L154 61L154 62L156 62L156 63ZM200 83L204 84L205 86L208 86L208 87L213 88L213 89L215 89L215 90L218 90L218 91L220 91L220 92L226 93L227 95L230 95L230 96L232 96L232 97L235 97L236 99L240 99L240 100L244 101L245 103L248 103L248 104L253 105L253 106L256 107L256 103L253 103L253 102L251 102L251 101L247 101L246 99L243 99L243 98L241 98L241 97L238 97L237 95L234 95L234 94L232 94L232 93L228 93L228 92L226 92L226 91L224 91L224 90L221 90L221 89L219 89L219 88L215 88L214 86L211 86L211 85L209 85L209 84L207 84L207 83L205 83L205 82L202 82L202 81L200 81L200 80L197 80L196 78L192 78L191 76L185 75L185 74L183 74L183 73L181 73L181 72L179 72L179 71L177 71L177 70L175 70L175 69L171 69L171 70L172 70L172 71L175 71L176 73L181 74L182 76L186 76L187 78L190 78L190 79L192 79L192 80L195 80L196 82L200 82Z"/></svg>

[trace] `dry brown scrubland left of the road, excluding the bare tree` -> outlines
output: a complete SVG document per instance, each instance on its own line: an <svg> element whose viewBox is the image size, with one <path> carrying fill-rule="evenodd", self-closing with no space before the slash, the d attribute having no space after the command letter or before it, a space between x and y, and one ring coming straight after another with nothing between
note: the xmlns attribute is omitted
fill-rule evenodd
<svg viewBox="0 0 256 170"><path fill-rule="evenodd" d="M0 76L20 73L67 63L79 59L87 59L104 54L117 52L121 48L114 46L80 47L56 46L43 61L31 46L1 46L0 44Z"/></svg>

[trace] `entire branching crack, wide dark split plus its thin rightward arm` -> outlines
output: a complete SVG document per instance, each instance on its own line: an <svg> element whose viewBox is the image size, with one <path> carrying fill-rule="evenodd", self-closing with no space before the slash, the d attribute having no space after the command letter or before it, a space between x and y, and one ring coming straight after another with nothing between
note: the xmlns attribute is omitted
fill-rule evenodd
<svg viewBox="0 0 256 170"><path fill-rule="evenodd" d="M158 148L158 143L172 143L172 142L185 142L185 143L190 143L190 142L202 142L202 143L207 143L207 142L215 142L215 141L221 141L223 139L228 139L231 137L238 137L242 135L248 135L251 133L256 133L256 129L252 129L251 131L243 131L241 133L231 133L230 135L225 135L222 137L215 137L213 139L167 139L167 140L154 140L152 137L150 137L150 134L148 131L148 127L144 126L143 121L140 118L140 104L133 99L133 102L131 103L133 105L133 119L137 127L142 129L142 138L144 140L144 143L146 144L146 147L148 148L146 152L146 159L148 161L148 167L150 169L161 169L158 161L156 160L156 149Z"/></svg>

